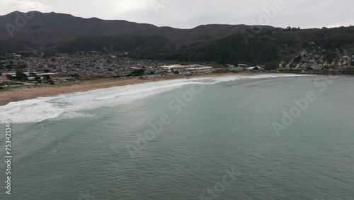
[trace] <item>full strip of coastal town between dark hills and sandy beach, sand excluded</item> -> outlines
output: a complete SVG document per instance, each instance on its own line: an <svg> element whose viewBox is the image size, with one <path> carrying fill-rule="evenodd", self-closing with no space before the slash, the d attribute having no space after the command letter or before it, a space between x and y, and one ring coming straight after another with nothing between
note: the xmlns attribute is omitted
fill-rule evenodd
<svg viewBox="0 0 354 200"><path fill-rule="evenodd" d="M154 78L166 76L192 76L219 72L284 72L295 70L301 73L314 73L314 70L338 70L353 66L354 55L346 55L337 60L324 60L322 52L299 52L292 62L279 62L278 70L267 69L265 65L203 65L157 60L135 60L128 52L107 54L105 52L79 52L74 55L58 54L48 56L37 51L12 53L0 57L0 86L9 82L26 84L59 84L73 82L75 79L111 78ZM21 78L23 74L24 79ZM17 78L16 78L17 77Z"/></svg>

